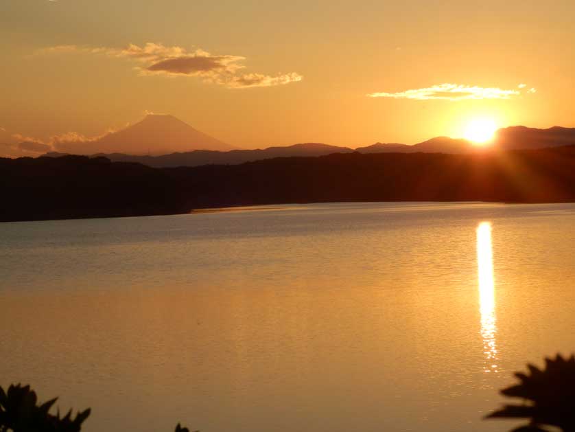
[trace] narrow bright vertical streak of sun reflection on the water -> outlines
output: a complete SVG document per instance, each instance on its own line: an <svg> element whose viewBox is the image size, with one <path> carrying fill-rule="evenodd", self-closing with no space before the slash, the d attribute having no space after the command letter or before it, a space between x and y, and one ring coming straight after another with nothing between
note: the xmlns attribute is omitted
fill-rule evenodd
<svg viewBox="0 0 575 432"><path fill-rule="evenodd" d="M489 222L482 222L477 227L477 264L481 337L483 339L483 350L486 357L484 371L497 373L495 279L493 277L491 223Z"/></svg>

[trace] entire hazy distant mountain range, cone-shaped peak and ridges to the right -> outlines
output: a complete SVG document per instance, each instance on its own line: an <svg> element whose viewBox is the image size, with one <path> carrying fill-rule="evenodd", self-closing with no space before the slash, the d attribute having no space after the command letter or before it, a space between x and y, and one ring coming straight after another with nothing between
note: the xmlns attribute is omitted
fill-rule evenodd
<svg viewBox="0 0 575 432"><path fill-rule="evenodd" d="M16 135L14 135L16 136ZM489 148L513 150L546 148L575 144L575 128L554 126L548 129L512 126L497 131L494 143L486 148L474 146L465 139L435 137L419 144L377 142L352 148L321 143L272 146L256 150L239 150L189 126L172 115L147 115L141 122L93 139L63 141L50 145L36 141L17 143L0 128L0 157L47 155L105 156L112 161L143 163L155 168L236 165L275 157L318 157L333 153L451 153L482 152ZM3 143L3 144L2 144Z"/></svg>

